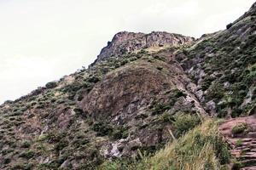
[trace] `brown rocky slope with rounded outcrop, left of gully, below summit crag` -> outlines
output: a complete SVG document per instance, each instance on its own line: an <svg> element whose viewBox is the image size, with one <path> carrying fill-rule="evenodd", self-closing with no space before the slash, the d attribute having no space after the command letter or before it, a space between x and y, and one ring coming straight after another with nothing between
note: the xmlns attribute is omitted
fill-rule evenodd
<svg viewBox="0 0 256 170"><path fill-rule="evenodd" d="M98 60L1 105L1 168L90 169L165 144L177 111L205 114L184 88L195 85L172 60L179 46L171 46L161 56L148 47Z"/></svg>

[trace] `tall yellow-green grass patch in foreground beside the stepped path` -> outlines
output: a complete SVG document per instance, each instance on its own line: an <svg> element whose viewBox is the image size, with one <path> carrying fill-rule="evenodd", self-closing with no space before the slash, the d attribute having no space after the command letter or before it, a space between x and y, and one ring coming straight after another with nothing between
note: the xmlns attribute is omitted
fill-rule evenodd
<svg viewBox="0 0 256 170"><path fill-rule="evenodd" d="M228 147L218 133L218 123L212 120L167 144L154 156L139 156L140 161L106 161L99 169L215 170L230 160Z"/></svg>

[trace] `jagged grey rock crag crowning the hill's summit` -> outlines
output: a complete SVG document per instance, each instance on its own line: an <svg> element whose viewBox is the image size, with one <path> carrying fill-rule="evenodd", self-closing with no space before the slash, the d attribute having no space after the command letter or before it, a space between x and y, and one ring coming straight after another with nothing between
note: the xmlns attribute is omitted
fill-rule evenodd
<svg viewBox="0 0 256 170"><path fill-rule="evenodd" d="M107 47L102 48L97 60L106 59L112 55L136 52L143 48L190 45L193 42L195 42L193 37L184 37L164 31L153 31L149 34L122 31L114 35Z"/></svg>

